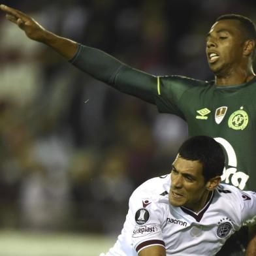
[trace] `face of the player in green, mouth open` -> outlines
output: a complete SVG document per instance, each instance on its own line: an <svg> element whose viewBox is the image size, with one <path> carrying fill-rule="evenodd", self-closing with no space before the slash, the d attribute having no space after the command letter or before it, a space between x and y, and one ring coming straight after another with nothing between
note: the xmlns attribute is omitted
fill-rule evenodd
<svg viewBox="0 0 256 256"><path fill-rule="evenodd" d="M206 55L215 75L227 76L241 66L243 38L239 20L220 20L211 27L206 37Z"/></svg>

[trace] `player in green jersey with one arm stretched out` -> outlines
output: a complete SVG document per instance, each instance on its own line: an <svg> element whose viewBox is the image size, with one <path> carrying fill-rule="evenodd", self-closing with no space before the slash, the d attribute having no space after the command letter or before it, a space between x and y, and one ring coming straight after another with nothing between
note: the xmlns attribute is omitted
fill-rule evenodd
<svg viewBox="0 0 256 256"><path fill-rule="evenodd" d="M50 46L78 69L156 104L159 112L183 118L189 136L216 138L227 157L221 180L240 189L256 190L256 30L251 20L234 14L217 18L206 38L206 55L215 79L206 82L138 71L101 50L47 31L19 10L5 5L0 8L27 37ZM256 236L249 242L246 255L256 255Z"/></svg>

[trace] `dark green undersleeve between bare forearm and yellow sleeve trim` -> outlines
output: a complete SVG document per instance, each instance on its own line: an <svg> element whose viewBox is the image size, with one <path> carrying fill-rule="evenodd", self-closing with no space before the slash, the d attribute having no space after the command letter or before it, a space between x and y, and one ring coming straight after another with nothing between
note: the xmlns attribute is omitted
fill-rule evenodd
<svg viewBox="0 0 256 256"><path fill-rule="evenodd" d="M133 69L101 50L82 44L78 44L78 51L69 62L123 93L155 104L157 78L151 74Z"/></svg>

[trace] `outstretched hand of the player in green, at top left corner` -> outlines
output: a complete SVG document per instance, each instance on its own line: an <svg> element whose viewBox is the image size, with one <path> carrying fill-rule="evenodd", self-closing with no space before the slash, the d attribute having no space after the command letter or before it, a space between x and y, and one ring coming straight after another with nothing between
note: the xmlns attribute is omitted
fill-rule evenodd
<svg viewBox="0 0 256 256"><path fill-rule="evenodd" d="M29 17L27 14L21 12L20 10L7 7L6 5L0 5L0 9L6 13L7 20L10 20L10 22L18 25L20 29L25 32L27 37L39 42L44 41L48 31L46 31L44 27L33 20L33 18Z"/></svg>

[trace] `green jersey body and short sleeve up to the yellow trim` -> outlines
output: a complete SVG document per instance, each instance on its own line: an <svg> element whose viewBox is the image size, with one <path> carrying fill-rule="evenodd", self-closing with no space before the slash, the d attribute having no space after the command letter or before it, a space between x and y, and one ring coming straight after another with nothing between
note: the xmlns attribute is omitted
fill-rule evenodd
<svg viewBox="0 0 256 256"><path fill-rule="evenodd" d="M189 136L212 136L225 149L221 180L256 190L256 78L228 87L181 76L157 80L155 103L159 111L183 118Z"/></svg>

